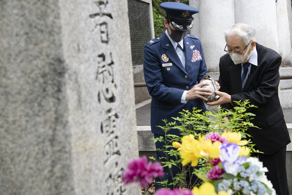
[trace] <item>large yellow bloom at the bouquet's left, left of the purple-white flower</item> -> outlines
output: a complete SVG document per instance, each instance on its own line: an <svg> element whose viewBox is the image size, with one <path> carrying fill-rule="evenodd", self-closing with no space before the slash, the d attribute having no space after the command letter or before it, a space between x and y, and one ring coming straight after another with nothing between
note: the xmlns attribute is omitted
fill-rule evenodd
<svg viewBox="0 0 292 195"><path fill-rule="evenodd" d="M192 134L185 135L182 138L182 144L178 148L180 151L180 157L183 159L183 166L187 165L187 163L191 163L192 166L196 166L198 164L199 158L204 156L200 155L200 150L198 149L199 141L194 138Z"/></svg>

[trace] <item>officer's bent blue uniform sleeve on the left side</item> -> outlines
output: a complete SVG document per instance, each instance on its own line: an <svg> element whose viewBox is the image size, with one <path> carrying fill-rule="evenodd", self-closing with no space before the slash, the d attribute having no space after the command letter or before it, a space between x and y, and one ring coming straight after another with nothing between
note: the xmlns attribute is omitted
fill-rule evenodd
<svg viewBox="0 0 292 195"><path fill-rule="evenodd" d="M144 46L143 71L150 96L160 101L181 103L185 90L166 86L159 58L148 44Z"/></svg>

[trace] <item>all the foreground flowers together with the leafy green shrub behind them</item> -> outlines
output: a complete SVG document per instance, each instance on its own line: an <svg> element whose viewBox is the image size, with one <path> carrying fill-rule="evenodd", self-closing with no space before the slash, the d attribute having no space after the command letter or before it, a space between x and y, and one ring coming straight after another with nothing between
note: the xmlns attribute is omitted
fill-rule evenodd
<svg viewBox="0 0 292 195"><path fill-rule="evenodd" d="M124 183L139 182L140 186L147 186L152 177L163 175L163 167L183 165L181 173L173 177L166 189L159 189L156 195L274 195L272 183L267 180L265 172L267 168L257 158L250 157L251 152L260 152L253 149L251 137L245 131L248 127L255 127L250 122L252 113L246 112L249 108L248 100L235 102L239 106L234 111L221 110L218 112L206 111L193 108L192 113L183 111L178 121L168 123L161 127L165 132L166 139L162 137L154 139L154 142L165 143L166 156L175 156L177 161L163 160L162 164L147 163L147 158L134 159L128 163L128 170L122 177ZM228 120L226 120L228 118ZM181 137L169 134L172 129L178 129ZM169 146L172 145L172 146ZM157 149L163 151L161 149ZM150 157L156 160L153 157ZM194 174L202 180L200 187L187 186L191 191L182 187L184 174L190 167L195 169ZM173 185L175 189L167 189ZM182 190L183 189L183 190ZM154 192L145 192L154 194Z"/></svg>

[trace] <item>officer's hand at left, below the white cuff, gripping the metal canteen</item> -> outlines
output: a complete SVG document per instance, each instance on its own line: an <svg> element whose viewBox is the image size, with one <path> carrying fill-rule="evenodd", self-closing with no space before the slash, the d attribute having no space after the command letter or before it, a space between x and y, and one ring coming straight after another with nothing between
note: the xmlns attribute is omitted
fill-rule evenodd
<svg viewBox="0 0 292 195"><path fill-rule="evenodd" d="M207 101L208 99L205 98L203 95L211 96L212 94L210 92L212 92L212 90L207 89L207 88L201 88L204 85L209 85L209 83L202 82L202 83L195 85L192 89L187 91L187 95L186 95L185 99L190 100L190 99L195 99L195 98L201 98L201 99Z"/></svg>

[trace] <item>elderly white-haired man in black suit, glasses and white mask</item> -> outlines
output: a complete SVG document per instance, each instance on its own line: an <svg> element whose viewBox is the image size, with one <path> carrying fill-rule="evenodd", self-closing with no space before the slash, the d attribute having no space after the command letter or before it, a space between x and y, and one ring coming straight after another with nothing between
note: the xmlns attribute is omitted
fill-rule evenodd
<svg viewBox="0 0 292 195"><path fill-rule="evenodd" d="M286 122L278 96L279 67L282 58L274 50L255 42L255 30L247 24L235 24L225 30L227 52L220 58L220 99L209 106L221 104L228 110L233 101L249 99L257 106L248 110L256 116L251 121L260 127L249 128L258 156L269 172L268 180L278 195L289 195L286 175L286 145L290 143Z"/></svg>

